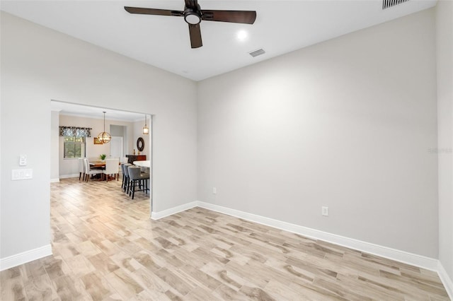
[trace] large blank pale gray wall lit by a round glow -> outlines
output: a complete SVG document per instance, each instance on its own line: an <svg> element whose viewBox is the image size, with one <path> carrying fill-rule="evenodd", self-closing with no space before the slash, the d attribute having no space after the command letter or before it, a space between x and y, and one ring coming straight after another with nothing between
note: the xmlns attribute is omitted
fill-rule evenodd
<svg viewBox="0 0 453 301"><path fill-rule="evenodd" d="M198 99L200 201L437 257L432 9L201 81Z"/></svg>

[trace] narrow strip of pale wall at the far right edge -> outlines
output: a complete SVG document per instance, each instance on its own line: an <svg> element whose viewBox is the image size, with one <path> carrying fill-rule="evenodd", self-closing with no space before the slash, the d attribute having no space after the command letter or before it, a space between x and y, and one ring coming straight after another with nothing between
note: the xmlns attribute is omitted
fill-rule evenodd
<svg viewBox="0 0 453 301"><path fill-rule="evenodd" d="M453 282L453 2L439 1L437 31L437 127L439 259Z"/></svg>

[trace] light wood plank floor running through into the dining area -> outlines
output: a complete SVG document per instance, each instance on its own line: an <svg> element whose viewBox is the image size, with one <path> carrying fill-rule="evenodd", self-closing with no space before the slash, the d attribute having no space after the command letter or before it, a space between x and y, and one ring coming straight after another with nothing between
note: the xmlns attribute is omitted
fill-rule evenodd
<svg viewBox="0 0 453 301"><path fill-rule="evenodd" d="M149 218L120 182L51 184L53 256L1 300L449 300L435 272L193 208Z"/></svg>

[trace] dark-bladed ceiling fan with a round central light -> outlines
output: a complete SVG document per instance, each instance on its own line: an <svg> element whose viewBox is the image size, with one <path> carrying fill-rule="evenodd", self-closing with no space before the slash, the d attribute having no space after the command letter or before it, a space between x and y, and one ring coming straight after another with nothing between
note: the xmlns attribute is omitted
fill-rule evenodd
<svg viewBox="0 0 453 301"><path fill-rule="evenodd" d="M218 21L230 23L253 24L256 19L256 11L214 11L201 9L197 0L185 0L184 11L171 11L169 9L141 8L125 6L128 13L142 15L175 16L184 17L189 25L190 45L192 48L202 47L200 22Z"/></svg>

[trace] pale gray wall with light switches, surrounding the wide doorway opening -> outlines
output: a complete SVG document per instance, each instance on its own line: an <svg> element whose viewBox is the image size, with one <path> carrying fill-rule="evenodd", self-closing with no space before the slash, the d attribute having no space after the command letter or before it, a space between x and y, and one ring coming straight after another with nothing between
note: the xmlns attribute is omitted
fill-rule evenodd
<svg viewBox="0 0 453 301"><path fill-rule="evenodd" d="M8 13L0 27L0 259L50 244L52 99L156 114L153 210L196 199L193 81ZM19 154L28 155L33 179L11 181Z"/></svg>

